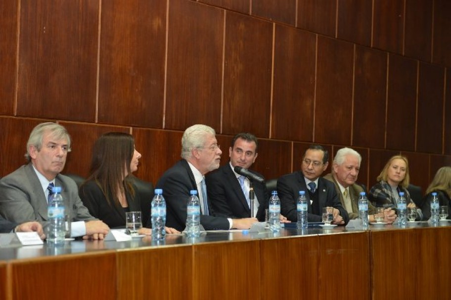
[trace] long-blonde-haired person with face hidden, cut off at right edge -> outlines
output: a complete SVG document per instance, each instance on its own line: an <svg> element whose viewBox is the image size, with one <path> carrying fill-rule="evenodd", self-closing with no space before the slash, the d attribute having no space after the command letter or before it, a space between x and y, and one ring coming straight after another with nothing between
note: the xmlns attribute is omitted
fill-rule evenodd
<svg viewBox="0 0 451 300"><path fill-rule="evenodd" d="M432 192L437 193L440 206L448 206L448 218L451 219L451 167L441 167L435 173L429 187L426 189L426 195L423 198L423 206L421 207L424 219L431 217L431 200Z"/></svg>

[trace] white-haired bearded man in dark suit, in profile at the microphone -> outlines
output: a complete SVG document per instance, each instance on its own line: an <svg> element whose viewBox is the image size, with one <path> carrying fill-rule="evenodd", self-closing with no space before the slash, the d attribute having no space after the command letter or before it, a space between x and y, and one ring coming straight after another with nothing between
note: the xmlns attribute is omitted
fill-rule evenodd
<svg viewBox="0 0 451 300"><path fill-rule="evenodd" d="M248 229L255 218L231 219L214 217L207 200L204 175L219 168L221 149L215 130L206 125L193 125L185 130L181 139L181 157L158 181L166 200L166 226L183 230L186 225L186 203L190 190L197 190L200 200L200 224L206 230Z"/></svg>

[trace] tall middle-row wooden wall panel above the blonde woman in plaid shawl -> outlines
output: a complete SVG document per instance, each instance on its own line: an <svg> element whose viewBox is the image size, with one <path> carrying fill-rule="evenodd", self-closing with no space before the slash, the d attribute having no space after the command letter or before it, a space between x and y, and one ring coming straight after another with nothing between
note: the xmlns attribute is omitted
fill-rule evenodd
<svg viewBox="0 0 451 300"><path fill-rule="evenodd" d="M415 149L417 62L389 55L387 149Z"/></svg>

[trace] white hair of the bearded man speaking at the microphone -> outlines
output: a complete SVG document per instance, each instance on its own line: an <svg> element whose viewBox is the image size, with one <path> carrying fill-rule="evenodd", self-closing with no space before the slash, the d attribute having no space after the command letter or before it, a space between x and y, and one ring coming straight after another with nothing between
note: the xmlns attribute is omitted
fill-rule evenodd
<svg viewBox="0 0 451 300"><path fill-rule="evenodd" d="M186 128L181 137L181 158L191 157L191 150L204 147L206 135L216 135L215 129L207 125L196 124Z"/></svg>

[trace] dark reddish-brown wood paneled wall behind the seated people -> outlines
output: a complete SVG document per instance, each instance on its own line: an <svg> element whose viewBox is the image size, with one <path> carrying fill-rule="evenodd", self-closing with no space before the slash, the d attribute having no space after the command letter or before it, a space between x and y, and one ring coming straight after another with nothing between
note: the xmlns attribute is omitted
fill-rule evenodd
<svg viewBox="0 0 451 300"><path fill-rule="evenodd" d="M48 120L73 138L65 172L83 176L115 130L155 183L195 123L216 129L223 163L231 136L256 134L267 178L298 170L312 142L358 150L368 187L400 152L423 190L451 164L448 0L3 2L0 176Z"/></svg>

